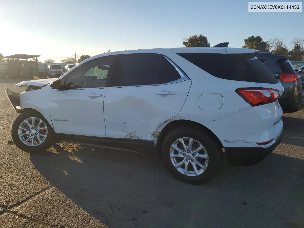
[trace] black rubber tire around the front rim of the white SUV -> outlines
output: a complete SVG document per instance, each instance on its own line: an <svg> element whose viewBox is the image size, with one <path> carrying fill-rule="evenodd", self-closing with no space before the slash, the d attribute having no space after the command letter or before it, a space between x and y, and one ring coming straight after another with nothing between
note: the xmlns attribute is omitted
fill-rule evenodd
<svg viewBox="0 0 304 228"><path fill-rule="evenodd" d="M44 140L43 143L41 143L38 146L34 146L34 147L30 147L27 146L26 144L24 144L18 135L18 130L19 130L19 126L22 123L23 120L30 118L30 117L37 117L39 119L42 119L43 122L47 125L47 138ZM13 126L12 126L12 139L15 143L15 145L25 151L25 152L43 152L47 149L49 149L50 147L52 147L52 145L54 144L54 132L52 127L50 126L50 124L47 122L47 120L37 111L35 110L29 110L26 112L22 112L14 121Z"/></svg>

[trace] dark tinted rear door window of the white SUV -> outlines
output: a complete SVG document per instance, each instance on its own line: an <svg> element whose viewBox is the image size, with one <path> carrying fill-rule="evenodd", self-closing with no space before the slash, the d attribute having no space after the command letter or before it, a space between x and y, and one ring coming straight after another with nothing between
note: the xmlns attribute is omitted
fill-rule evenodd
<svg viewBox="0 0 304 228"><path fill-rule="evenodd" d="M110 86L155 85L180 78L163 55L122 55L117 58Z"/></svg>

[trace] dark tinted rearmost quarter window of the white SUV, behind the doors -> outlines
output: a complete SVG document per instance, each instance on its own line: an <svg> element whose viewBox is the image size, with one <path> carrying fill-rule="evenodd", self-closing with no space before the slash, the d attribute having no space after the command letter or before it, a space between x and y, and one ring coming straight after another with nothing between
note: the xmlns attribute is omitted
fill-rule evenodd
<svg viewBox="0 0 304 228"><path fill-rule="evenodd" d="M271 71L254 54L178 53L215 77L261 83L278 83Z"/></svg>

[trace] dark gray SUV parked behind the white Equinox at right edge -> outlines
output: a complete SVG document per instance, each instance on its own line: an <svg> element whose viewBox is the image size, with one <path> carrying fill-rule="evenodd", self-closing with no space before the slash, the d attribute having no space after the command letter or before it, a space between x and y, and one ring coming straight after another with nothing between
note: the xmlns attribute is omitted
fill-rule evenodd
<svg viewBox="0 0 304 228"><path fill-rule="evenodd" d="M278 99L283 112L296 112L304 107L301 75L295 72L295 68L286 56L260 52L257 54L268 69L275 74L284 87L284 93Z"/></svg>

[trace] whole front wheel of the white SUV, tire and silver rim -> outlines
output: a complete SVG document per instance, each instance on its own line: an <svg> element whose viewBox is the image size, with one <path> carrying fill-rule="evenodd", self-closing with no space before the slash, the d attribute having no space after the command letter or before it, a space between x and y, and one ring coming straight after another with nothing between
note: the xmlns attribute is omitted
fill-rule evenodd
<svg viewBox="0 0 304 228"><path fill-rule="evenodd" d="M32 131L30 126L32 126L33 118L34 118L34 126L37 128L33 129L34 132L29 133L29 130ZM24 122L25 120L27 120L27 122L30 124L30 126ZM40 120L43 122L40 122ZM22 124L22 129L26 129L28 131L19 129L21 124ZM39 130L38 126L39 126L40 130ZM37 132L36 132L36 129L37 129ZM24 135L21 136L21 138L20 138L19 134L24 134ZM43 137L42 135L46 135L46 137ZM34 140L32 140L31 138L28 139L29 137L33 137ZM39 137L40 141L39 141L38 137ZM16 118L15 122L13 123L12 139L13 139L14 143L16 144L16 146L25 152L42 153L45 150L47 150L53 146L54 131L53 131L52 127L50 126L50 124L47 122L47 120L39 112L37 112L35 110L29 110L26 112L22 112ZM27 144L25 144L22 140L25 142L27 140L27 142L26 142Z"/></svg>

